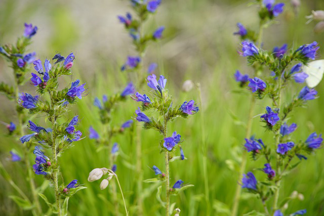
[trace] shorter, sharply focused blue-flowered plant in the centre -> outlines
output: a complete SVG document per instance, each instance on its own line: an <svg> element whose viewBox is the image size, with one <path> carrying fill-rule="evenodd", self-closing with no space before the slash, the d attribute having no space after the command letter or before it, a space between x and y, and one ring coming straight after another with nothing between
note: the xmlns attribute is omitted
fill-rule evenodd
<svg viewBox="0 0 324 216"><path fill-rule="evenodd" d="M156 79L155 74L148 75L147 85L152 89L152 94L149 96L142 97L140 93L136 93L133 98L135 101L141 103L135 111L134 118L144 123L145 129L155 129L162 136L163 139L160 140L159 144L156 145L160 152L165 154L165 173L162 172L155 165L152 169L158 178L144 180L144 182L166 182L166 201L162 201L160 198L161 189L158 191L158 201L166 208L166 215L170 215L173 209L170 209L170 195L177 195L180 191L191 187L193 185L184 185L183 181L178 180L172 188L170 188L170 161L183 160L185 159L181 139L181 135L177 132L168 134L168 123L174 120L176 117L187 118L189 115L193 115L199 111L198 106L193 100L187 102L185 101L181 105L174 105L173 98L166 89L167 79L160 75L159 79ZM137 100L136 100L137 99ZM145 114L145 112L150 111L150 115ZM175 156L176 154L180 156ZM161 187L161 186L160 186Z"/></svg>

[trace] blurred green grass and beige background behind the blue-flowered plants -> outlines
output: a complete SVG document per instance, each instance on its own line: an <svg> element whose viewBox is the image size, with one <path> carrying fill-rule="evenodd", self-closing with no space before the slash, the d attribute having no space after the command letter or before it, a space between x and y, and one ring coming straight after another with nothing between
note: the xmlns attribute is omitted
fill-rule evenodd
<svg viewBox="0 0 324 216"><path fill-rule="evenodd" d="M175 98L175 103L184 100L198 101L198 93L193 89L189 93L181 91L182 83L191 79L201 84L203 102L199 104L205 115L205 134L208 145L208 180L212 215L228 215L227 207L232 205L235 187L238 179L240 153L244 144L245 128L240 121L247 121L249 109L249 94L246 91L235 93L237 83L233 80L236 69L252 74L252 69L246 65L246 58L237 54L238 37L233 35L236 23L257 29L258 17L256 6L250 6L252 1L212 1L212 0L163 0L152 21L146 28L164 25L164 39L157 44L151 44L147 50L144 65L158 63L158 74L164 74L168 79L168 89ZM324 1L301 0L297 14L290 4L286 3L285 12L276 20L277 23L264 30L263 48L272 50L274 46L287 43L290 48L308 44L314 40L323 47L324 34L315 35L313 27L316 22L306 25L305 16L311 10L324 10ZM127 55L134 54L131 38L118 23L117 15L131 11L129 1L124 0L72 0L72 1L0 1L0 45L14 42L23 33L23 23L32 23L38 27L33 37L30 52L35 51L40 59L52 58L56 53L66 56L73 52L76 56L71 79L80 78L87 82L89 95L73 106L73 111L66 117L78 114L82 119L80 131L88 136L88 128L93 125L101 131L97 108L93 106L94 97L103 94L111 95L123 89L127 83L125 74L119 68ZM320 59L324 48L320 49ZM4 59L0 59L0 78L7 83L13 82L12 70ZM62 80L68 84L70 78ZM303 87L294 84L288 88L284 100L290 100ZM28 82L22 88L24 92L33 94L34 88ZM298 108L293 112L290 122L299 125L294 133L296 141L305 140L312 132L323 132L324 83L317 87L319 98L308 102L307 108ZM148 92L144 87L140 92ZM17 122L14 101L0 95L0 120ZM269 100L258 101L255 115L264 112L264 107L271 105ZM132 100L121 103L115 109L113 122L119 124L133 116L137 108ZM201 112L189 120L176 119L169 131L176 130L184 139L183 149L188 160L171 163L171 183L182 179L185 184L194 187L177 197L172 197L171 203L181 209L181 215L206 215L204 200L204 176L201 154ZM234 117L235 116L235 117ZM42 116L35 122L41 123ZM252 133L271 144L271 134L266 132L259 122L259 117L253 121ZM1 125L0 125L1 126ZM11 162L9 151L19 152L19 141L8 137L7 128L1 126L0 160L12 175L17 185L28 194L25 183L25 170L20 162ZM156 165L164 170L164 155L159 154L158 142L161 137L155 131L142 131L143 170L144 179L154 178L154 172L149 167ZM121 154L117 159L117 175L126 194L131 215L136 215L134 207L136 179L135 172L136 146L131 143L129 131L124 136L113 140L119 143ZM21 153L21 152L19 152ZM287 214L307 208L307 215L324 215L324 152L322 149L309 156L282 182L280 198L289 196L294 190L304 195L304 200L293 200L287 209ZM30 155L30 160L34 156ZM88 189L79 191L70 199L70 215L110 215L113 206L110 202L109 189L101 191L100 181L89 183L89 171L96 167L108 167L108 157L105 151L96 152L95 141L89 138L75 143L61 157L61 171L64 181L68 184L78 179ZM265 160L249 161L247 170L261 168ZM265 175L254 171L257 179L263 180ZM37 185L44 182L42 176L35 177ZM16 191L0 177L0 215L30 215L29 211L21 211L8 198ZM149 188L144 184L144 189ZM145 215L161 215L164 210L155 199L154 191L144 199ZM54 202L52 190L47 188L45 194ZM43 208L47 206L41 200ZM122 207L122 206L120 206ZM239 215L253 209L262 211L261 202L244 193L239 206ZM120 208L123 213L123 209Z"/></svg>

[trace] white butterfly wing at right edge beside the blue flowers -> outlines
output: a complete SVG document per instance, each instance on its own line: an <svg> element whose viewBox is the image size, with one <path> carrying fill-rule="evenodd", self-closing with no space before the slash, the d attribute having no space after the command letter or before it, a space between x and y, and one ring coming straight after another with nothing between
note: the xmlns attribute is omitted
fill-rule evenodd
<svg viewBox="0 0 324 216"><path fill-rule="evenodd" d="M306 84L309 88L314 88L323 78L324 59L312 61L308 66L303 66L303 71L307 73Z"/></svg>

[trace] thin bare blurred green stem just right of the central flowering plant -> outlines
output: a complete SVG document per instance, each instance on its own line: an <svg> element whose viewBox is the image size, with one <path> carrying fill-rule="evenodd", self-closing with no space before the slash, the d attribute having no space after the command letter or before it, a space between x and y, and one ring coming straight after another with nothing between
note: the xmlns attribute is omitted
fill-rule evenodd
<svg viewBox="0 0 324 216"><path fill-rule="evenodd" d="M207 214L210 215L210 201L209 201L209 183L208 183L208 170L207 170L207 145L206 145L206 135L205 135L205 117L203 109L203 100L201 99L201 88L200 83L197 83L197 90L200 103L200 127L201 127L201 150L203 151L203 172L204 172L204 182L205 182L205 201L207 204Z"/></svg>

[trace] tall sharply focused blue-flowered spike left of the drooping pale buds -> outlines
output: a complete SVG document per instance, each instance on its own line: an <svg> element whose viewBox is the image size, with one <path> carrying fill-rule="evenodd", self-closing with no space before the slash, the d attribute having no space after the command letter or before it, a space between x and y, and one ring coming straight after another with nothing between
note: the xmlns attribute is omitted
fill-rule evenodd
<svg viewBox="0 0 324 216"><path fill-rule="evenodd" d="M85 84L80 84L78 79L63 89L59 88L58 78L62 75L72 75L71 65L73 65L74 55L70 53L64 58L56 54L53 60L56 59L59 60L52 64L46 59L45 69L43 69L41 60L33 62L38 74L31 73L31 81L39 95L33 96L25 93L18 98L18 104L28 109L30 116L45 115L50 122L49 128L39 126L29 120L27 128L32 134L22 136L20 141L34 148L33 170L36 175L42 175L45 180L51 182L55 193L55 203L51 204L43 194L39 196L46 201L50 212L66 215L69 198L78 190L86 187L81 186L77 180L67 184L61 176L59 156L82 139L82 132L76 129L80 122L79 117L76 115L72 119L64 120L63 116L68 112L71 104L86 95L87 90L84 88Z"/></svg>

